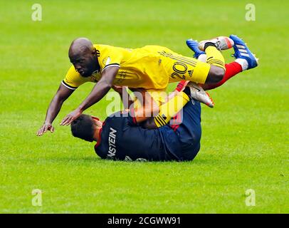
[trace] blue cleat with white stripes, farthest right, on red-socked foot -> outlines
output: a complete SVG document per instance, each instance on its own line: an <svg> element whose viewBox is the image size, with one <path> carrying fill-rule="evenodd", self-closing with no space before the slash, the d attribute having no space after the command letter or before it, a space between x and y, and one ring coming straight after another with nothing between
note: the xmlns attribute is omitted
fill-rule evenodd
<svg viewBox="0 0 289 228"><path fill-rule="evenodd" d="M235 51L233 56L245 59L248 62L247 70L258 66L258 58L250 51L246 43L236 35L231 35L230 38L235 43L233 46L233 50Z"/></svg>

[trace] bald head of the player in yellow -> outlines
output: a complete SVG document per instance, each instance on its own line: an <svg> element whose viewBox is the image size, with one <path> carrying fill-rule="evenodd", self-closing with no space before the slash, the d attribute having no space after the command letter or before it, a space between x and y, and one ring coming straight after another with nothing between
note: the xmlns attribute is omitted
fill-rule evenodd
<svg viewBox="0 0 289 228"><path fill-rule="evenodd" d="M75 71L88 77L98 70L98 56L93 43L88 38L76 38L70 45L68 56Z"/></svg>

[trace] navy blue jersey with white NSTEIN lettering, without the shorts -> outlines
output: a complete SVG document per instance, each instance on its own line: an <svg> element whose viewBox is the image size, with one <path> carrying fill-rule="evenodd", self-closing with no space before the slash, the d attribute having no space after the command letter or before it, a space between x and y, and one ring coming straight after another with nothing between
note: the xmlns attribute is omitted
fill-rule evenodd
<svg viewBox="0 0 289 228"><path fill-rule="evenodd" d="M112 160L183 160L179 137L169 125L144 129L127 112L106 118L95 152Z"/></svg>

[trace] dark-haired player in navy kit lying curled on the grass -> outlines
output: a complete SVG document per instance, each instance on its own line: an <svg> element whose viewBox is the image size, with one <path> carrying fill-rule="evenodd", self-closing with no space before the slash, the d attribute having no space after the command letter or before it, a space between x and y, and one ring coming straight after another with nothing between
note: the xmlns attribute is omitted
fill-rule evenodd
<svg viewBox="0 0 289 228"><path fill-rule="evenodd" d="M189 97L189 87L184 93ZM200 149L201 106L199 101L188 100L182 111L160 128L153 118L145 117L147 110L143 107L113 113L104 122L82 114L71 123L71 132L77 138L96 141L95 152L103 159L193 160ZM144 122L155 129L144 128Z"/></svg>

